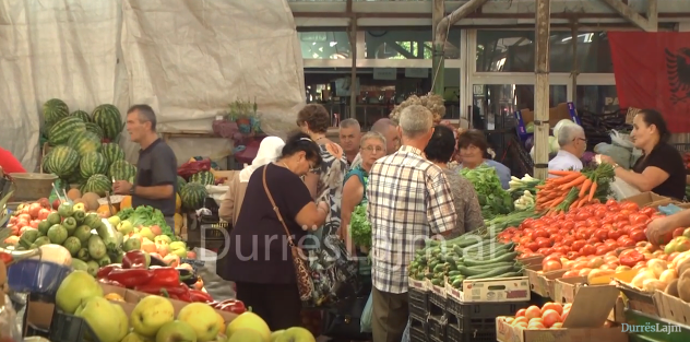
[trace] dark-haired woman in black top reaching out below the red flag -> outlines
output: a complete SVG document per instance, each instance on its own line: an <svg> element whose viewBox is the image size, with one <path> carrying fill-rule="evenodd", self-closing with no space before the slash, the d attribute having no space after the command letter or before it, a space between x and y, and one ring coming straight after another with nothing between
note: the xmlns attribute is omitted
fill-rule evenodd
<svg viewBox="0 0 690 342"><path fill-rule="evenodd" d="M618 167L609 156L602 155L602 162L614 165L616 177L640 191L652 191L682 200L686 192L686 166L680 152L667 143L670 132L662 115L654 109L641 110L632 121L630 137L635 148L644 153L632 170Z"/></svg>

